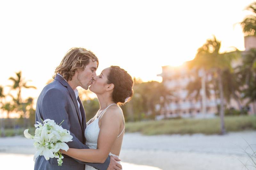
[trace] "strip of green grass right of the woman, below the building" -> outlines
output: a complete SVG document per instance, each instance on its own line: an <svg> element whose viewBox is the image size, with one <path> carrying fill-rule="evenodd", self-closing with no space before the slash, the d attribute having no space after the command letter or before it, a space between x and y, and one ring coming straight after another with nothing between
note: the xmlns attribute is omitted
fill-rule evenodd
<svg viewBox="0 0 256 170"><path fill-rule="evenodd" d="M256 130L256 116L226 116L225 127L227 132ZM125 131L140 132L144 135L220 134L220 118L127 122Z"/></svg>

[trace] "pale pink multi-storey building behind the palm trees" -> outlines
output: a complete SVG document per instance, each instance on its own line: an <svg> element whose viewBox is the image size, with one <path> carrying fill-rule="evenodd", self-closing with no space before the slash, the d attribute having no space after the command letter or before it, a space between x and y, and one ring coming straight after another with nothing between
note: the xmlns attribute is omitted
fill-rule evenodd
<svg viewBox="0 0 256 170"><path fill-rule="evenodd" d="M256 36L244 37L245 51L242 55L250 48L256 48ZM241 62L241 61L240 61ZM234 63L233 65L237 65ZM178 67L163 66L162 73L157 76L161 76L164 86L173 92L174 96L169 96L167 105L161 114L156 119L163 119L164 117L195 117L195 118L212 118L217 113L217 105L220 104L220 100L215 97L214 90L210 90L210 97L205 100L206 113L202 111L202 98L196 101L195 97L187 97L188 90L186 89L190 81L193 81L196 76L201 77L203 73L201 71L196 72L195 70L189 70L187 62ZM211 80L210 75L206 75L206 80ZM202 96L202 89L200 90ZM193 96L193 95L192 95ZM246 101L244 101L245 104ZM255 104L254 104L255 105ZM238 109L238 104L234 99L231 99L230 105ZM254 108L254 109L253 109ZM249 114L256 114L256 109L253 107L253 103L249 104Z"/></svg>

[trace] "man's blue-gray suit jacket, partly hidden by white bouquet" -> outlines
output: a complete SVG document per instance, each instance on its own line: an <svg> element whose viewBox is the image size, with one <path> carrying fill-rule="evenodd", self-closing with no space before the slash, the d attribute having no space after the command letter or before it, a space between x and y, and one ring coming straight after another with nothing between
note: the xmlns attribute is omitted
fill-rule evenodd
<svg viewBox="0 0 256 170"><path fill-rule="evenodd" d="M80 108L78 108L74 90L61 76L56 75L52 83L44 87L37 99L36 121L42 122L41 119L52 119L60 124L64 120L61 126L70 130L70 134L73 136L73 141L68 142L68 146L70 148L88 149L84 137L86 128L85 112L79 97L78 102ZM82 122L80 121L79 112L82 115ZM109 156L103 164L82 162L64 154L63 156L62 166L58 166L56 158L50 158L46 161L44 156L38 156L34 170L84 170L85 164L99 170L106 170L110 162Z"/></svg>

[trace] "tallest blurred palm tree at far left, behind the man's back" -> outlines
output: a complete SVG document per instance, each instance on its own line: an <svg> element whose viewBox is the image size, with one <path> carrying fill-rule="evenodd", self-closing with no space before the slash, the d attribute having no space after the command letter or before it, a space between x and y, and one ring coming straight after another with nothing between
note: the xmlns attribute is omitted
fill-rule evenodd
<svg viewBox="0 0 256 170"><path fill-rule="evenodd" d="M15 103L15 109L17 110L17 112L21 112L24 118L24 127L27 126L27 118L26 118L26 112L27 109L26 107L30 104L28 103L28 101L22 101L21 98L21 89L23 88L34 88L36 89L36 87L34 86L28 86L27 83L28 81L25 81L22 77L21 77L21 71L16 72L16 78L14 77L10 77L10 80L13 81L13 85L11 86L12 90L18 90L17 93L17 97L12 96L12 99Z"/></svg>

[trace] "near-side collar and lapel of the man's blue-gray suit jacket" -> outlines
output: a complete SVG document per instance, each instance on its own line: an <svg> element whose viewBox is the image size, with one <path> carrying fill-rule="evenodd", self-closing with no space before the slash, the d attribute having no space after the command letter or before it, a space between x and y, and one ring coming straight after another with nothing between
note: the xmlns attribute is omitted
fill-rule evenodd
<svg viewBox="0 0 256 170"><path fill-rule="evenodd" d="M60 75L57 74L55 79L58 80L62 85L66 86L68 88L68 92L69 92L69 94L71 96L71 99L72 99L72 101L73 101L73 103L75 105L75 108L76 108L76 115L78 117L78 121L79 121L80 127L81 127L81 129L83 129L82 122L80 121L81 120L81 116L79 114L79 108L78 108L78 104L77 104L76 95L75 95L74 90L70 87L68 82L66 80L64 80L64 78L62 78Z"/></svg>

